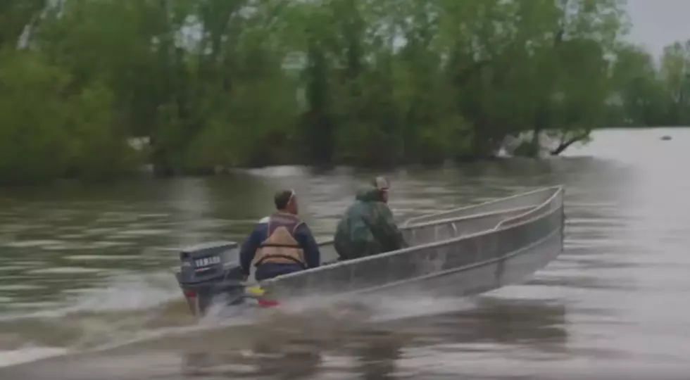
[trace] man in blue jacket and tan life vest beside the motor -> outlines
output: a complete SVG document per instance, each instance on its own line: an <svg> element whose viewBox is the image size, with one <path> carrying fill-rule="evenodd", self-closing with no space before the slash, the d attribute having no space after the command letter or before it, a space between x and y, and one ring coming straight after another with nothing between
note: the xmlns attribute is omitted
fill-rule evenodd
<svg viewBox="0 0 690 380"><path fill-rule="evenodd" d="M274 202L277 211L256 224L239 252L245 279L251 265L256 267L256 281L320 265L318 245L307 225L297 217L294 190L277 192Z"/></svg>

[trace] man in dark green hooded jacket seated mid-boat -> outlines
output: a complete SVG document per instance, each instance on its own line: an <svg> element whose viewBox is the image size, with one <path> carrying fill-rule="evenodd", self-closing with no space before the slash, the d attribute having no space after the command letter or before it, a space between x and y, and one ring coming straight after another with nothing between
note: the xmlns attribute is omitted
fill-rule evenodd
<svg viewBox="0 0 690 380"><path fill-rule="evenodd" d="M376 177L365 189L358 191L338 223L334 246L340 260L361 258L395 251L408 246L388 207L389 182Z"/></svg>

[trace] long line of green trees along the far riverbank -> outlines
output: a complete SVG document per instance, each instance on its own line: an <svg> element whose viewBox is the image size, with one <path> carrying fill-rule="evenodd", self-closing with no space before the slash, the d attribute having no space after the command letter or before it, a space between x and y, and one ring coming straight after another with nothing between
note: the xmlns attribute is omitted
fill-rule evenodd
<svg viewBox="0 0 690 380"><path fill-rule="evenodd" d="M3 0L0 182L473 160L523 132L558 154L690 124L690 44L657 64L629 26L620 0Z"/></svg>

